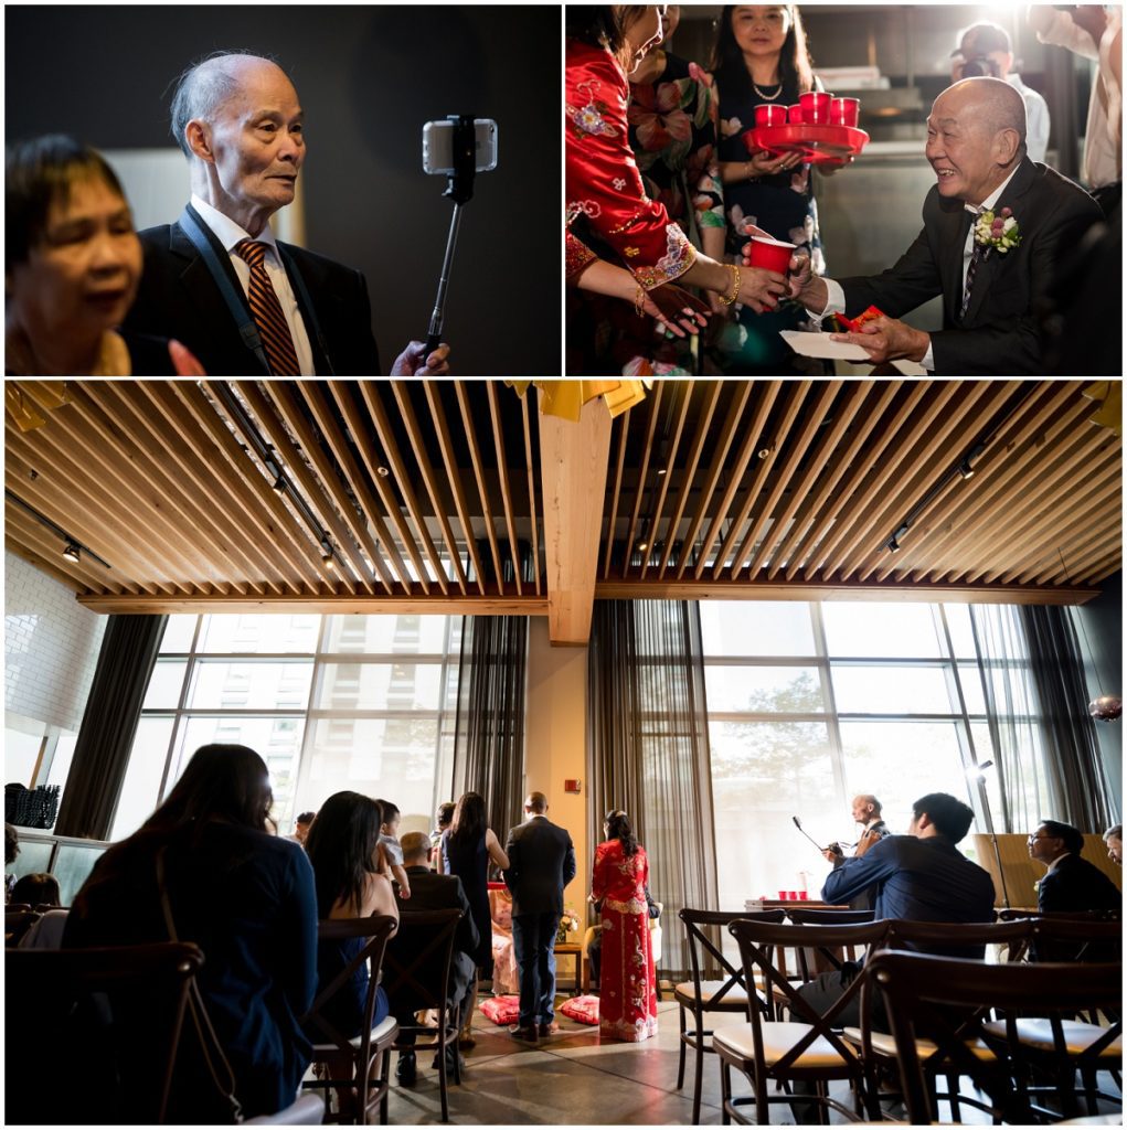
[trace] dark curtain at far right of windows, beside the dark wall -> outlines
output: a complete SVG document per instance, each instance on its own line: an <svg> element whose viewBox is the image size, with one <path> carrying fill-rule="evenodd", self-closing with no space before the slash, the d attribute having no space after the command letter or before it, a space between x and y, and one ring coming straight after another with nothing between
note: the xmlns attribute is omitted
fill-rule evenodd
<svg viewBox="0 0 1127 1130"><path fill-rule="evenodd" d="M1111 806L1095 722L1087 711L1076 627L1068 609L1059 605L1022 606L1021 618L1044 724L1049 785L1057 806L1054 814L1041 815L1063 819L1081 832L1102 832L1112 823Z"/></svg>

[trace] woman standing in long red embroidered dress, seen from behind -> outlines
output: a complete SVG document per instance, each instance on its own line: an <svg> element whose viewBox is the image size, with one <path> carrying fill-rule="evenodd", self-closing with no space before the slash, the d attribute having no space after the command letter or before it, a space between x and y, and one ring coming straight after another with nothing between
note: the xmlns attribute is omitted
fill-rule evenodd
<svg viewBox="0 0 1127 1130"><path fill-rule="evenodd" d="M658 1034L657 974L645 887L650 864L621 809L602 823L595 849L591 902L602 901L599 1038L649 1040Z"/></svg>

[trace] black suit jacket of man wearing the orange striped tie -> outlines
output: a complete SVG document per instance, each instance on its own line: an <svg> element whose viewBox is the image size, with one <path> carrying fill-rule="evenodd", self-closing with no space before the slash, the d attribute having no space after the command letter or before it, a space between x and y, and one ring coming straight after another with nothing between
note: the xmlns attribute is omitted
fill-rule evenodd
<svg viewBox="0 0 1127 1130"><path fill-rule="evenodd" d="M217 249L219 262L229 273L236 293L242 295L227 252L210 229L201 226ZM269 375L243 345L207 263L180 221L150 227L139 234L145 249L145 270L124 328L136 333L175 338L191 349L208 376ZM372 336L372 306L364 276L288 243L279 241L278 249L286 271L291 278L295 273L301 277L313 304L321 330L320 341L301 288L295 285L318 375L379 375L382 370ZM250 316L249 306L246 315ZM151 374L136 372L135 375Z"/></svg>

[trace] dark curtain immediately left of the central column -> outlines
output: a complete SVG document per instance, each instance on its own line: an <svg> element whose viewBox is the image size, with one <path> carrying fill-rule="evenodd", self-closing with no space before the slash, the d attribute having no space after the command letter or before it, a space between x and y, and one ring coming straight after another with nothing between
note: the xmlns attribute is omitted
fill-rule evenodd
<svg viewBox="0 0 1127 1130"><path fill-rule="evenodd" d="M522 815L527 671L527 616L462 620L453 799L479 792L502 844Z"/></svg>

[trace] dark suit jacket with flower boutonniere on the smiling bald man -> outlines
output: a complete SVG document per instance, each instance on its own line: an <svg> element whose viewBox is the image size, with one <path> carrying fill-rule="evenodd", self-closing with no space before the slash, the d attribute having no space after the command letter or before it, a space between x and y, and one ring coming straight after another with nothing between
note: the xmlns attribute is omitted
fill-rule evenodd
<svg viewBox="0 0 1127 1130"><path fill-rule="evenodd" d="M840 280L846 313L856 318L873 305L900 318L943 295L943 329L931 334L937 376L1043 373L1040 305L1063 258L1102 212L1080 185L1028 157L995 212L1002 208L1013 211L1022 242L1004 255L991 251L979 263L962 322L963 247L974 217L962 200L947 200L936 188L924 201L924 231L894 267ZM1107 332L1118 340L1121 314L1109 305Z"/></svg>

